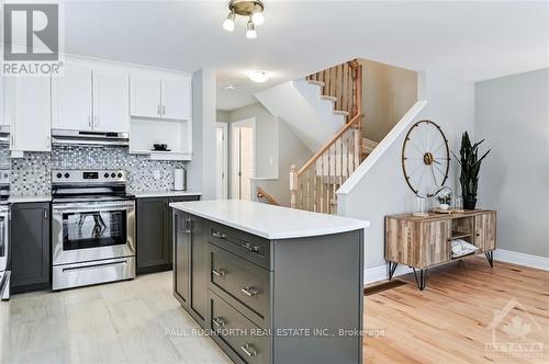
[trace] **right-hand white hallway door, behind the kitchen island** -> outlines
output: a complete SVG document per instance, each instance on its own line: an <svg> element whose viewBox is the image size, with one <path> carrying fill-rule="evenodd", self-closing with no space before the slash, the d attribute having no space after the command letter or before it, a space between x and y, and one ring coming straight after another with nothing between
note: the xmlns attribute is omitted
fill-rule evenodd
<svg viewBox="0 0 549 364"><path fill-rule="evenodd" d="M231 198L251 200L255 175L255 120L231 124Z"/></svg>

